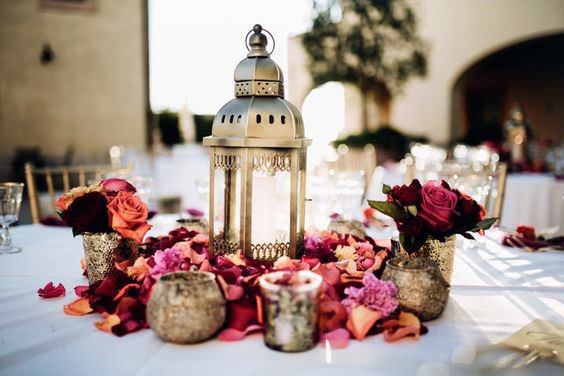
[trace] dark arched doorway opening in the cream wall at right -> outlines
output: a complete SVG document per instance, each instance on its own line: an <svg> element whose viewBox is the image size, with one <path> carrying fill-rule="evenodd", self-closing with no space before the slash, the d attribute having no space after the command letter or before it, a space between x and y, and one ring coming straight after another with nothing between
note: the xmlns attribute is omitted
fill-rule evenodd
<svg viewBox="0 0 564 376"><path fill-rule="evenodd" d="M453 140L500 141L515 102L537 138L564 139L564 34L511 45L467 68L453 87Z"/></svg>

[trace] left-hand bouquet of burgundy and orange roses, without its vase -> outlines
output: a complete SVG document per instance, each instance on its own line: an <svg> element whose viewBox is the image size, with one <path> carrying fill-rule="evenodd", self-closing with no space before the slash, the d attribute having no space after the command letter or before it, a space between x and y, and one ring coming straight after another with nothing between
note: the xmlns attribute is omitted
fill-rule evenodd
<svg viewBox="0 0 564 376"><path fill-rule="evenodd" d="M147 205L136 192L124 179L104 179L97 185L71 189L57 199L55 208L75 236L115 231L142 243L151 226Z"/></svg>

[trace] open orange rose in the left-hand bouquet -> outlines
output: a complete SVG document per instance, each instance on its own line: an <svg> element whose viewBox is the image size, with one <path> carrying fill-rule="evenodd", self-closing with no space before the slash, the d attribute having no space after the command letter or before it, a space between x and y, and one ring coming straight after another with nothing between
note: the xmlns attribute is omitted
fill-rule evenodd
<svg viewBox="0 0 564 376"><path fill-rule="evenodd" d="M110 226L124 238L141 243L151 228L147 223L147 205L132 192L118 192L108 204L108 211Z"/></svg>

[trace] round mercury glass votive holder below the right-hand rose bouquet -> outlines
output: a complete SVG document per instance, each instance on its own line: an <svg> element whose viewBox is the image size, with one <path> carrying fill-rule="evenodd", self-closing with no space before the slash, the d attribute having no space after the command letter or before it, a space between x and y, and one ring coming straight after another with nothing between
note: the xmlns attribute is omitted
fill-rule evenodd
<svg viewBox="0 0 564 376"><path fill-rule="evenodd" d="M450 286L432 260L396 256L387 262L382 280L396 285L400 310L422 321L439 317L446 308Z"/></svg>

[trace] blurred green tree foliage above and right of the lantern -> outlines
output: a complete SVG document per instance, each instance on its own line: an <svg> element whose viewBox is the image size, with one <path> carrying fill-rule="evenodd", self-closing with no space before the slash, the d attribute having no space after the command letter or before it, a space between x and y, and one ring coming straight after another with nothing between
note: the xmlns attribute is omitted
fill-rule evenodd
<svg viewBox="0 0 564 376"><path fill-rule="evenodd" d="M408 0L313 0L313 9L302 43L315 86L351 83L389 106L410 78L426 75L427 43Z"/></svg>

